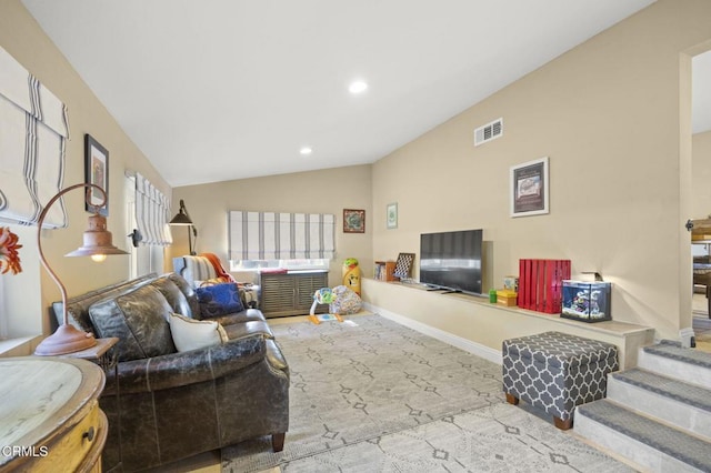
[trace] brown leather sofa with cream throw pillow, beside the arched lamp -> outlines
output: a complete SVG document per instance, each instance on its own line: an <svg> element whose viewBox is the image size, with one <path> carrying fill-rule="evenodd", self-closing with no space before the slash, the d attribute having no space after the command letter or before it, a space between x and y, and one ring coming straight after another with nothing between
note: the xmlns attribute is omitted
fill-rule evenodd
<svg viewBox="0 0 711 473"><path fill-rule="evenodd" d="M289 366L256 309L217 319L229 341L178 352L167 319L200 319L194 290L176 273L149 274L68 300L70 323L118 336L100 406L109 417L103 471L143 470L289 427ZM58 319L61 302L53 304ZM120 416L119 416L120 414ZM120 429L119 429L120 425Z"/></svg>

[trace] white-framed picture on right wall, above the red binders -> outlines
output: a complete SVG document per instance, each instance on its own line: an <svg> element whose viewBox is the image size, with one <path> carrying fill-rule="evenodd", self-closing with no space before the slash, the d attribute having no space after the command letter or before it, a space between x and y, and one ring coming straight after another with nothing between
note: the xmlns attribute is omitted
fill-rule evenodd
<svg viewBox="0 0 711 473"><path fill-rule="evenodd" d="M548 157L512 165L509 175L511 217L549 213Z"/></svg>

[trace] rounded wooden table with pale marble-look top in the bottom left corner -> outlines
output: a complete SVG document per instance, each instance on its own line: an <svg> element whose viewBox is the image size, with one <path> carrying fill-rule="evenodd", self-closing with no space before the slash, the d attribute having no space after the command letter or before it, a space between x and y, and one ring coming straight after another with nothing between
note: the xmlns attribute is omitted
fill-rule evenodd
<svg viewBox="0 0 711 473"><path fill-rule="evenodd" d="M100 472L104 381L86 360L0 359L0 473Z"/></svg>

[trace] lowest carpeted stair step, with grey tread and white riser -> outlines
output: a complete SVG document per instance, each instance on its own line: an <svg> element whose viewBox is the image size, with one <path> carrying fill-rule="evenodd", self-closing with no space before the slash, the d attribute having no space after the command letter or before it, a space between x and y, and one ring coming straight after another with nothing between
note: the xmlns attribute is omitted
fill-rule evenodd
<svg viewBox="0 0 711 473"><path fill-rule="evenodd" d="M654 472L711 471L711 443L607 399L578 406L574 432Z"/></svg>

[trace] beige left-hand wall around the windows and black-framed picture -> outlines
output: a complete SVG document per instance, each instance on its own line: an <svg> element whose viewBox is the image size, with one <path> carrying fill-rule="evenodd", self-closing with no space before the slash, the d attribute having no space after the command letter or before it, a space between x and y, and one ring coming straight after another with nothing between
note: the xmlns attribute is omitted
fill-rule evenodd
<svg viewBox="0 0 711 473"><path fill-rule="evenodd" d="M109 202L110 217L108 225L113 230L113 242L127 249L124 238L123 174L130 169L140 171L148 179L170 194L170 187L156 172L146 157L128 139L114 119L97 100L87 84L69 66L64 57L57 50L49 38L39 28L34 19L27 12L19 0L0 2L0 46L12 54L26 69L34 74L69 108L69 129L71 139L67 147L67 167L64 187L83 182L83 137L91 134L109 150ZM101 58L97 58L101 61ZM127 279L129 275L128 256L109 258L101 265L87 258L63 258L63 254L81 244L82 232L87 228L88 213L84 212L83 194L74 191L66 195L69 214L69 228L42 232L42 244L47 259L64 282L69 295L86 292L112 282ZM37 274L38 264L33 255L31 242L21 251L26 261L26 271ZM28 264L32 264L29 268ZM37 291L41 286L41 308L49 308L52 301L60 298L59 290L44 271L39 271L41 283L34 282L20 290ZM6 276L3 276L6 278ZM12 280L6 280L12 284ZM31 283L31 282L28 282ZM28 325L34 326L40 314L24 313ZM34 330L49 332L49 313L42 314L42 322ZM37 333L37 331L34 331ZM12 334L11 334L12 335Z"/></svg>

